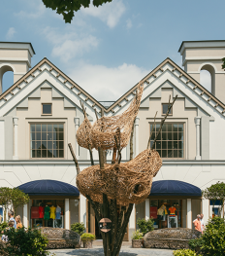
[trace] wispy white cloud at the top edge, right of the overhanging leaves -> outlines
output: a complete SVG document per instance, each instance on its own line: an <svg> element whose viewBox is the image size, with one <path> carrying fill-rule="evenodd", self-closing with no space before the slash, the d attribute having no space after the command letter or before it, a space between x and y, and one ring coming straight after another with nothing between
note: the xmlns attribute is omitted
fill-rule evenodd
<svg viewBox="0 0 225 256"><path fill-rule="evenodd" d="M91 3L89 8L81 8L80 10L83 14L100 18L112 28L118 23L126 8L122 0L113 0L111 3L106 3L99 7L94 7Z"/></svg>

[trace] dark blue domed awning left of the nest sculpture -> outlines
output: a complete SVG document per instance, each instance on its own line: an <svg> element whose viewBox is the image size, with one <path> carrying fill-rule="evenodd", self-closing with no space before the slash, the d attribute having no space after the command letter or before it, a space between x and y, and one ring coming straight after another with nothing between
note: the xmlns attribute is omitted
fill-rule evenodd
<svg viewBox="0 0 225 256"><path fill-rule="evenodd" d="M80 192L76 187L57 180L34 180L17 188L29 196L80 196Z"/></svg>

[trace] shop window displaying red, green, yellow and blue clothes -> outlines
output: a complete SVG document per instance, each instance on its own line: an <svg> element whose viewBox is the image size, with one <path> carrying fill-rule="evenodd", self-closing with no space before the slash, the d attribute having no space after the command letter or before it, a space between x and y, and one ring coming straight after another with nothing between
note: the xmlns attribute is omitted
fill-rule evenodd
<svg viewBox="0 0 225 256"><path fill-rule="evenodd" d="M31 226L64 228L64 203L64 200L33 200Z"/></svg>

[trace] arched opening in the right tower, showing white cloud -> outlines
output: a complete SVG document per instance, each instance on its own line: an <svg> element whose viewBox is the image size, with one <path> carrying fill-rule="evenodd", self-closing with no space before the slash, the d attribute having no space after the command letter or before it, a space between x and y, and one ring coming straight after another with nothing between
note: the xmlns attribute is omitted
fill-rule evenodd
<svg viewBox="0 0 225 256"><path fill-rule="evenodd" d="M200 71L200 84L215 94L215 70L210 64L203 65Z"/></svg>

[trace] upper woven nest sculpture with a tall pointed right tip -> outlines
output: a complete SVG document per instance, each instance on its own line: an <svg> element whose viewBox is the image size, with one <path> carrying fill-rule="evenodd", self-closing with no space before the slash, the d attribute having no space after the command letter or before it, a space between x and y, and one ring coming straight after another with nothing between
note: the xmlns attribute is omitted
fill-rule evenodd
<svg viewBox="0 0 225 256"><path fill-rule="evenodd" d="M136 96L125 112L113 117L102 117L94 123L92 128L89 120L85 116L76 135L80 147L86 149L91 147L97 150L99 147L103 150L116 148L114 136L119 128L120 147L121 149L125 148L130 139L134 120L139 112L143 91L144 86L139 83Z"/></svg>

